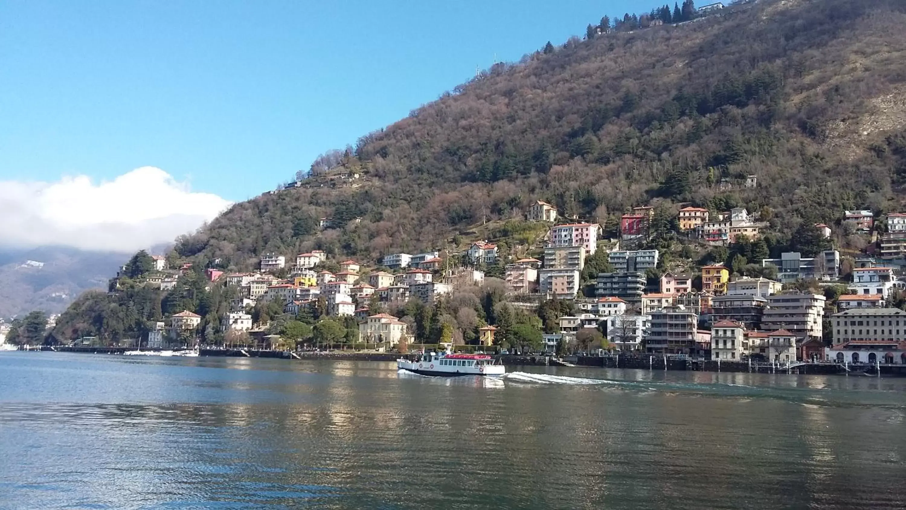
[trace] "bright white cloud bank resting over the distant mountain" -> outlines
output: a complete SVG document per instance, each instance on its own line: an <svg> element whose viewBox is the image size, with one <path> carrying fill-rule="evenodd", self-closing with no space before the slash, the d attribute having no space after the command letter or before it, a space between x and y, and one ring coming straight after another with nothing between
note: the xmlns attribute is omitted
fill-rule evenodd
<svg viewBox="0 0 906 510"><path fill-rule="evenodd" d="M0 181L0 245L132 252L193 232L229 205L154 167L99 184Z"/></svg>

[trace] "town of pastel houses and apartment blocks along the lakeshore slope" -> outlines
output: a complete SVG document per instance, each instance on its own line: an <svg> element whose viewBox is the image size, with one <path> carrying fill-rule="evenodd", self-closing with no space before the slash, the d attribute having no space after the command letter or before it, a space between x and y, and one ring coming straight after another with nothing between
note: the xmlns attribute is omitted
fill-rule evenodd
<svg viewBox="0 0 906 510"><path fill-rule="evenodd" d="M750 176L741 184L757 186L757 180ZM203 342L406 351L447 345L786 365L906 364L906 214L842 211L836 228L872 240L863 253L841 255L833 247L834 229L815 224L805 235L813 237L814 253L772 258L759 244L766 222L741 207L681 207L666 218L670 236L680 242L652 247L654 237L663 237L654 230L665 228L659 226L664 211L634 207L620 217L618 235L604 238L602 225L562 217L535 200L524 211L525 225L543 232L535 244L476 239L458 250L388 253L373 261L332 259L318 249L267 253L247 272L226 271L218 260L202 271L153 255L152 267L138 277L129 276L135 276L135 259L124 265L111 293L124 282L169 293L194 271L204 275L207 291L229 295L213 334L211 324L201 327L205 311L180 310L143 333L141 345L148 348ZM477 317L456 322L458 329L440 319L443 303L458 293L487 296L495 284L503 288L496 301L521 318L478 307ZM431 310L439 322L434 326L422 318ZM287 332L287 321L305 326ZM326 322L336 331L325 332ZM462 324L468 332L459 331Z"/></svg>

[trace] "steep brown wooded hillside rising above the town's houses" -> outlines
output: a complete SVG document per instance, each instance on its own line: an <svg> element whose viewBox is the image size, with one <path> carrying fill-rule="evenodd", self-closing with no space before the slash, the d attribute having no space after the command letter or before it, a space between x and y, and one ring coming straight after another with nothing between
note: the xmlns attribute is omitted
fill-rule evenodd
<svg viewBox="0 0 906 510"><path fill-rule="evenodd" d="M313 247L415 253L519 217L534 199L610 230L654 201L747 207L784 245L804 220L900 207L904 25L901 0L763 1L631 32L590 25L585 40L496 64L316 162L299 188L237 204L178 251L240 268ZM325 180L335 165L362 177ZM750 174L755 189L740 186ZM321 217L334 227L318 228Z"/></svg>

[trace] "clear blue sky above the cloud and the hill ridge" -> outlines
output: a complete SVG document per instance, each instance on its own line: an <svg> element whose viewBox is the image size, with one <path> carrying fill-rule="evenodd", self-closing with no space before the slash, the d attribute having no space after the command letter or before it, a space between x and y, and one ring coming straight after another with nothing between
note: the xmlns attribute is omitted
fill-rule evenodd
<svg viewBox="0 0 906 510"><path fill-rule="evenodd" d="M10 0L0 181L152 166L243 200L498 60L656 2Z"/></svg>

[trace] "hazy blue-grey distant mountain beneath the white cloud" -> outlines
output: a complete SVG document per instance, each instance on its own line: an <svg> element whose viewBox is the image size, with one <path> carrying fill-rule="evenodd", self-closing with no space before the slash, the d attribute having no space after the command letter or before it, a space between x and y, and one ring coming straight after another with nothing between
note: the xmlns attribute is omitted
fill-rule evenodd
<svg viewBox="0 0 906 510"><path fill-rule="evenodd" d="M80 293L106 289L129 256L63 246L0 248L0 317L32 310L62 313Z"/></svg>

